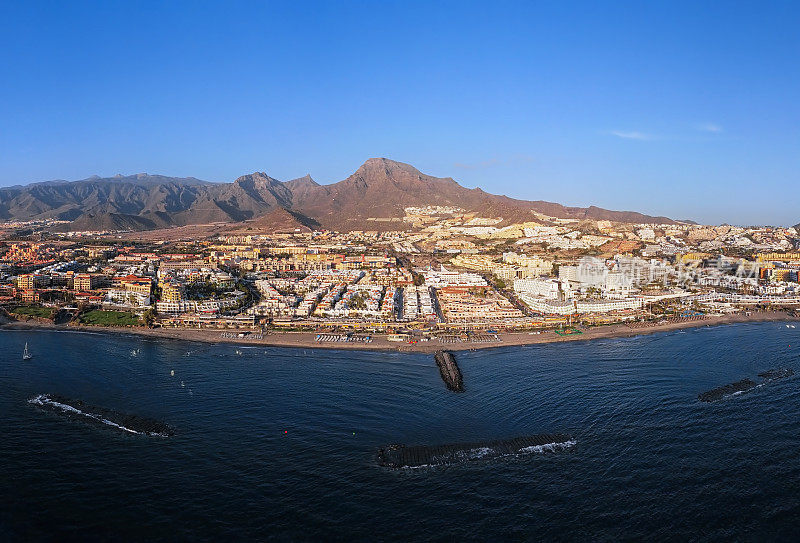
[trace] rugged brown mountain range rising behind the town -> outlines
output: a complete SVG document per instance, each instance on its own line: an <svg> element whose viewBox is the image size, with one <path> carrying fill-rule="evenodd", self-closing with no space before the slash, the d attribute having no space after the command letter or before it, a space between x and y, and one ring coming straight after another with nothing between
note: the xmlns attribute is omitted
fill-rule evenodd
<svg viewBox="0 0 800 543"><path fill-rule="evenodd" d="M468 189L449 177L425 175L413 166L385 158L371 158L353 175L331 185L320 185L310 176L281 182L255 172L233 183L138 174L0 189L0 218L74 221L71 230L146 230L251 220L266 230L374 230L381 224L397 229L397 222L367 219L398 218L405 207L424 205L460 207L507 222L532 220L533 212L560 218L673 222L628 211L515 200Z"/></svg>

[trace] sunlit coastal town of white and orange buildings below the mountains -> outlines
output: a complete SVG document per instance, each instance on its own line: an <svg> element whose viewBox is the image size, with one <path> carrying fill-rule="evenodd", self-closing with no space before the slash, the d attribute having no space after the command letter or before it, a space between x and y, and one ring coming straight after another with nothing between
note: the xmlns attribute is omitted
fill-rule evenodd
<svg viewBox="0 0 800 543"><path fill-rule="evenodd" d="M402 220L373 218L375 230L240 227L205 236L8 222L3 317L400 345L499 343L507 333L565 336L800 307L795 228L542 214L507 224L455 207L404 212Z"/></svg>

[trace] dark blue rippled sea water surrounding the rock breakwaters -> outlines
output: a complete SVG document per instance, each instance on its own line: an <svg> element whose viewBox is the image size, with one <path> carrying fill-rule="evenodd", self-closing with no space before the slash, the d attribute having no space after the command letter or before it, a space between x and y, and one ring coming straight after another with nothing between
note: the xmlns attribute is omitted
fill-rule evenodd
<svg viewBox="0 0 800 543"><path fill-rule="evenodd" d="M28 342L34 359L23 362ZM794 540L800 326L459 353L246 348L0 331L2 540ZM171 370L175 375L171 376ZM28 403L147 415L126 435ZM376 448L569 432L566 453L391 471Z"/></svg>

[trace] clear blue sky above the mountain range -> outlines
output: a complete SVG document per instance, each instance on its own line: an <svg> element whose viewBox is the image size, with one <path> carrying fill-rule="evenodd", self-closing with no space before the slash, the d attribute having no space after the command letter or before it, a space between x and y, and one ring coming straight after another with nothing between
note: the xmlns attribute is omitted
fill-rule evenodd
<svg viewBox="0 0 800 543"><path fill-rule="evenodd" d="M800 222L800 3L0 0L0 185L339 181Z"/></svg>

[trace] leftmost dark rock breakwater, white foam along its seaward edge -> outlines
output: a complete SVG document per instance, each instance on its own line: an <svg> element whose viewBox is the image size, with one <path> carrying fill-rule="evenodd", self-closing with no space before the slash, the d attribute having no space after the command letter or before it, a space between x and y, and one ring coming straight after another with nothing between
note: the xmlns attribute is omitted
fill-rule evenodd
<svg viewBox="0 0 800 543"><path fill-rule="evenodd" d="M88 405L82 400L65 398L58 394L39 394L28 402L70 420L100 424L130 434L160 437L169 437L175 434L172 427L161 421Z"/></svg>

